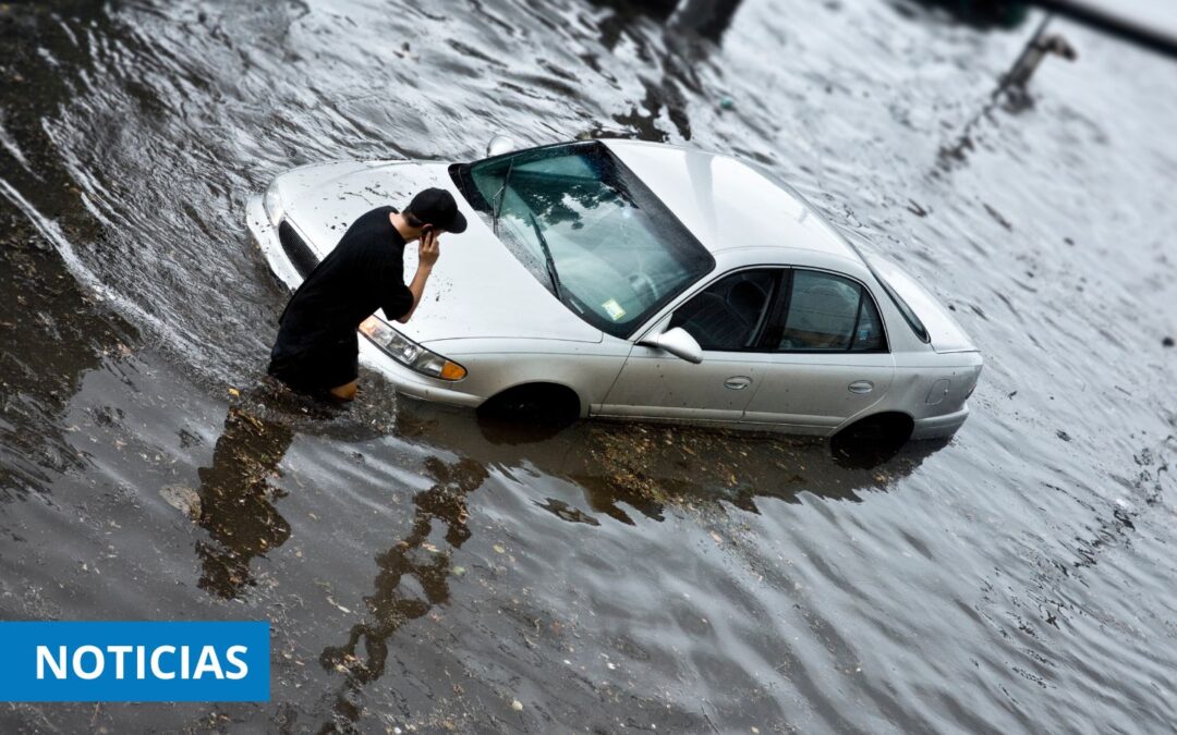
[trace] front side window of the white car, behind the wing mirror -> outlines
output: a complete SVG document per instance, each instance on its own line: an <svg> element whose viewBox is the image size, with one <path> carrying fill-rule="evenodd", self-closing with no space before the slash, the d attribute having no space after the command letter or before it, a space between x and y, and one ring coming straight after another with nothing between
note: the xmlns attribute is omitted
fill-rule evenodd
<svg viewBox="0 0 1177 735"><path fill-rule="evenodd" d="M720 279L680 306L671 327L683 327L710 350L752 349L767 320L778 270L742 270Z"/></svg>

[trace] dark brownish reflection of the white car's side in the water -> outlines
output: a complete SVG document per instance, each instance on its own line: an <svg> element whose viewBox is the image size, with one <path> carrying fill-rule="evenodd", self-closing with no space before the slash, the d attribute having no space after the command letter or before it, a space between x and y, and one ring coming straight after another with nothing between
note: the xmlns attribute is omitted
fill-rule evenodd
<svg viewBox="0 0 1177 735"><path fill-rule="evenodd" d="M576 483L585 509L533 500L580 523L593 523L599 514L633 524L631 512L661 520L667 506L718 502L756 512L758 496L798 502L809 493L857 501L859 493L885 489L947 445L863 443L836 456L827 442L809 439L603 421L520 426L407 400L395 426L401 436L441 443L481 465L530 465Z"/></svg>

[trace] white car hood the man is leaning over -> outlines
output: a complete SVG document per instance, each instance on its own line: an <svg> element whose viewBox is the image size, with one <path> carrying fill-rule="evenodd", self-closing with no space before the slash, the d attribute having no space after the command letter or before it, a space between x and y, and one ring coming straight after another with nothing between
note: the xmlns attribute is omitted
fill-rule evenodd
<svg viewBox="0 0 1177 735"><path fill-rule="evenodd" d="M405 206L427 187L453 194L468 227L441 238L423 303L397 329L420 343L463 338L528 338L599 342L601 332L568 310L520 263L470 207L445 163L404 161L310 166L279 176L286 216L324 258L365 212ZM405 280L417 245L405 248Z"/></svg>

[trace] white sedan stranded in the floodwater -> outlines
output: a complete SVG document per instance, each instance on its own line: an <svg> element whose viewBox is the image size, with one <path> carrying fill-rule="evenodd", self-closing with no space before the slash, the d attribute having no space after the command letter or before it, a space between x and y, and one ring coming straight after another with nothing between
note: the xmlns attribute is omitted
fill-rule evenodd
<svg viewBox="0 0 1177 735"><path fill-rule="evenodd" d="M964 423L982 358L949 310L759 168L629 140L501 148L297 168L248 226L293 289L368 209L453 193L470 226L412 321L360 327L361 361L418 399L825 436Z"/></svg>

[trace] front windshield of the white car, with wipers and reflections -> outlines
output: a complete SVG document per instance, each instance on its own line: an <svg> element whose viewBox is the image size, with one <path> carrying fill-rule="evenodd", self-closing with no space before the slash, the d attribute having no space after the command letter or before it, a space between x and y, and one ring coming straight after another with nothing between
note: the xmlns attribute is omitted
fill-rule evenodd
<svg viewBox="0 0 1177 735"><path fill-rule="evenodd" d="M460 166L471 205L548 290L620 338L714 267L714 259L599 142Z"/></svg>

